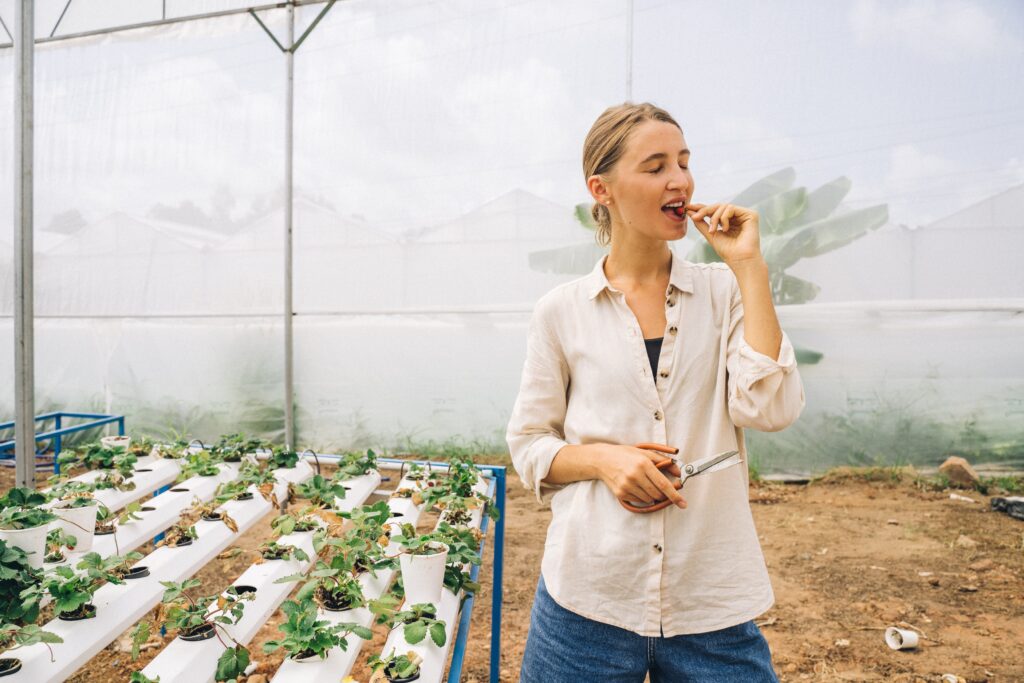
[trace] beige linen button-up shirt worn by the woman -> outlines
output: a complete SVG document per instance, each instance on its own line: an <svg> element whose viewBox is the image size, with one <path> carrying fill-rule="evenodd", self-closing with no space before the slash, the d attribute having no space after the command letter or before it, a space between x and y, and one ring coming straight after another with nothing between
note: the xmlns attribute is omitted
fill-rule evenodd
<svg viewBox="0 0 1024 683"><path fill-rule="evenodd" d="M604 274L541 298L508 427L512 462L552 519L542 562L558 604L642 636L706 633L774 602L748 501L743 427L775 431L804 407L793 345L778 360L743 339L735 275L673 258L665 341L651 377L643 334ZM688 507L627 511L600 480L542 480L562 446L654 441L691 462L738 450L744 462L686 482Z"/></svg>

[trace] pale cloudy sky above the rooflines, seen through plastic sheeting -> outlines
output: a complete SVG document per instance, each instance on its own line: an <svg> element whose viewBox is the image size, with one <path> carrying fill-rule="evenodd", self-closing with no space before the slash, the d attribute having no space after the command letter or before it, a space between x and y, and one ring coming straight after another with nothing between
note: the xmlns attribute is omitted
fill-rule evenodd
<svg viewBox="0 0 1024 683"><path fill-rule="evenodd" d="M74 0L60 31L160 6ZM39 34L62 7L39 2ZM283 36L284 12L263 16ZM681 123L694 201L793 167L809 189L847 176L848 208L886 204L916 227L1024 182L1022 57L1024 5L1009 0L349 0L296 57L296 187L395 233L517 188L571 207L589 199L588 128L632 98ZM0 50L0 111L12 66ZM273 206L284 76L246 15L40 47L37 225L159 205L226 226ZM0 116L0 159L11 137ZM11 173L0 165L4 222Z"/></svg>

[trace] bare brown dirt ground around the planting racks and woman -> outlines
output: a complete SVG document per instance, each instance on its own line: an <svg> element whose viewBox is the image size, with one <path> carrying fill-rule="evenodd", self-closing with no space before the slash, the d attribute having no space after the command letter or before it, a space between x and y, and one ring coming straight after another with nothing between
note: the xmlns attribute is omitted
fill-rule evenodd
<svg viewBox="0 0 1024 683"><path fill-rule="evenodd" d="M0 488L10 481L4 468ZM946 673L969 682L1024 681L1024 523L991 512L988 497L977 492L956 492L975 503L950 499L950 493L894 470L838 471L810 484L752 486L776 596L758 624L781 681L938 681ZM511 474L503 682L518 679L550 515ZM434 520L428 515L422 523ZM253 549L268 532L266 519L238 545ZM488 680L493 550L488 535L466 683ZM210 563L198 574L204 592L223 589L250 561ZM272 676L281 660L260 650L278 623L280 615L250 646L261 674ZM916 650L886 646L883 633L894 625L921 634ZM364 652L379 650L384 636L376 633ZM71 680L124 681L159 651L154 647L131 663L122 639L92 660L88 675L79 672ZM369 678L362 668L352 673L359 681Z"/></svg>

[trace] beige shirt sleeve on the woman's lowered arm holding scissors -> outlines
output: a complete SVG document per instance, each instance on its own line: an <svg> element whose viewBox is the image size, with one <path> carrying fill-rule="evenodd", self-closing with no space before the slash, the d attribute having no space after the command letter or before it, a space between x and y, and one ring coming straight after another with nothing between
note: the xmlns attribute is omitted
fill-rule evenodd
<svg viewBox="0 0 1024 683"><path fill-rule="evenodd" d="M544 503L564 484L544 483L551 461L567 445L564 438L568 366L551 326L544 300L538 304L529 324L526 362L522 369L519 396L512 409L506 440L512 465L526 488Z"/></svg>

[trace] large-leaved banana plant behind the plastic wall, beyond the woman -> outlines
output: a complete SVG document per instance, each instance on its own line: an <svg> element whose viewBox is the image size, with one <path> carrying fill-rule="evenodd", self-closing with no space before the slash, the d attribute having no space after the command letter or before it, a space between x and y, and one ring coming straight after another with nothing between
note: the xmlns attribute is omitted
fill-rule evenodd
<svg viewBox="0 0 1024 683"><path fill-rule="evenodd" d="M787 268L800 259L845 247L889 219L885 204L837 213L853 186L849 178L841 176L811 191L795 187L796 180L797 172L785 168L761 178L727 202L753 208L760 216L761 251L768 264L776 305L807 303L821 290L812 282L787 273ZM574 215L585 228L596 229L589 204L578 205ZM541 272L585 274L606 251L596 244L537 251L529 255L529 267ZM696 263L722 260L702 240L690 249L686 259ZM814 365L823 357L818 351L799 346L796 351L798 362L803 365Z"/></svg>

